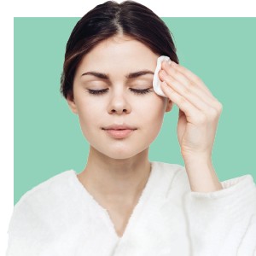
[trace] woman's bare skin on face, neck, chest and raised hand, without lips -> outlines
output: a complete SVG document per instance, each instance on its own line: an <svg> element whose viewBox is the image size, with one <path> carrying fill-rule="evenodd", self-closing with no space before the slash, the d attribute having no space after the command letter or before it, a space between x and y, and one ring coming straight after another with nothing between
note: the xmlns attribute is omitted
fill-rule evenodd
<svg viewBox="0 0 256 256"><path fill-rule="evenodd" d="M84 55L74 76L73 98L67 98L90 143L87 165L79 173L79 181L108 210L119 236L148 181L148 149L173 103L180 108L177 137L191 190L222 189L211 160L221 104L201 79L174 62L164 62L159 73L168 97L155 94L152 84L158 57L133 38L108 38ZM141 70L151 73L126 78ZM85 74L88 72L108 74L108 79ZM145 94L132 91L145 89ZM96 95L91 94L92 90L104 92ZM124 123L137 129L124 139L109 137L102 130Z"/></svg>

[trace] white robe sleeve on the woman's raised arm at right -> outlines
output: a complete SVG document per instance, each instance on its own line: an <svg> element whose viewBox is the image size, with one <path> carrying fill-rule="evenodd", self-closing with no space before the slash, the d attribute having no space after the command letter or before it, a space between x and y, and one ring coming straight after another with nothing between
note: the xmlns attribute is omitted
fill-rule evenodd
<svg viewBox="0 0 256 256"><path fill-rule="evenodd" d="M256 186L251 175L221 182L223 189L185 195L192 255L256 256Z"/></svg>

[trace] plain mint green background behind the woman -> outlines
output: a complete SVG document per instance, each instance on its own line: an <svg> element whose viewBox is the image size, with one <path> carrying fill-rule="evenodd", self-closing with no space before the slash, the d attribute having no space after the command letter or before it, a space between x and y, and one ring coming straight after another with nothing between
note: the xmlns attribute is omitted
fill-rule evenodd
<svg viewBox="0 0 256 256"><path fill-rule="evenodd" d="M15 203L55 174L85 166L89 145L59 93L65 46L79 18L15 18ZM224 106L212 152L220 180L256 180L256 18L163 18L181 65ZM183 165L177 107L167 113L150 160Z"/></svg>

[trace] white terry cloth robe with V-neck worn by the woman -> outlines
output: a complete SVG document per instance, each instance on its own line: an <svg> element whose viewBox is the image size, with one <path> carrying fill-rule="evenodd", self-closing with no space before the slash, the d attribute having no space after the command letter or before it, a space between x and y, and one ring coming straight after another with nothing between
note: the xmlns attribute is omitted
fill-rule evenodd
<svg viewBox="0 0 256 256"><path fill-rule="evenodd" d="M244 175L224 189L191 191L183 166L151 163L122 237L73 170L26 192L9 224L8 256L253 256L256 187Z"/></svg>

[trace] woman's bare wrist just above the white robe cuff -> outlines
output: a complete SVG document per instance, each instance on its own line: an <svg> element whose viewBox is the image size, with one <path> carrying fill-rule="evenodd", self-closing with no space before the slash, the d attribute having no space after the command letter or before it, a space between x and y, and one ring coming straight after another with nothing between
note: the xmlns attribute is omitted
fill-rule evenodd
<svg viewBox="0 0 256 256"><path fill-rule="evenodd" d="M185 160L185 169L191 191L209 193L223 189L212 166L211 158L195 156L191 160Z"/></svg>

